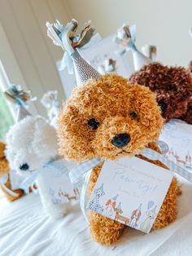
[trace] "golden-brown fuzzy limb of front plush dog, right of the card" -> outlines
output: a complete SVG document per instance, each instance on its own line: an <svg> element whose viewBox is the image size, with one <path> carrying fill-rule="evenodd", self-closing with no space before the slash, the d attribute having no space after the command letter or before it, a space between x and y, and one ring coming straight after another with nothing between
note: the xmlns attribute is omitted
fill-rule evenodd
<svg viewBox="0 0 192 256"><path fill-rule="evenodd" d="M178 196L181 195L181 186L178 184L177 179L173 178L172 183L165 196L164 203L159 210L159 214L155 219L153 229L168 226L177 218L177 201Z"/></svg>

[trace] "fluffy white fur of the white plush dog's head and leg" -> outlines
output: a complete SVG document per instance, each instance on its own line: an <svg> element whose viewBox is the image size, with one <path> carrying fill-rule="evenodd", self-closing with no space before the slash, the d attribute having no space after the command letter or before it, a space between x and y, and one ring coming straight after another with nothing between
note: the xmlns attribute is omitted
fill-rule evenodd
<svg viewBox="0 0 192 256"><path fill-rule="evenodd" d="M43 117L25 117L11 126L7 133L7 159L12 169L20 174L30 175L38 171L47 162L58 156L56 130ZM28 170L20 170L20 166L28 164ZM61 218L70 210L70 203L54 205L46 189L43 176L37 177L37 187L46 211L55 218Z"/></svg>

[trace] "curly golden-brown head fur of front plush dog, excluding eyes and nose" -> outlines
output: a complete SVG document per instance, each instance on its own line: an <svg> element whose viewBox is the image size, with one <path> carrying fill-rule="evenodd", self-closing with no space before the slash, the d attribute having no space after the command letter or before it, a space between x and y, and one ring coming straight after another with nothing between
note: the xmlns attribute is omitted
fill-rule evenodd
<svg viewBox="0 0 192 256"><path fill-rule="evenodd" d="M133 112L136 118L131 117ZM129 131L131 141L124 150L134 156L159 137L163 126L159 113L155 95L144 86L130 85L115 74L89 80L73 90L59 113L59 153L76 161L95 156L115 159L126 153L114 147L111 139ZM99 122L98 130L88 126L91 118Z"/></svg>

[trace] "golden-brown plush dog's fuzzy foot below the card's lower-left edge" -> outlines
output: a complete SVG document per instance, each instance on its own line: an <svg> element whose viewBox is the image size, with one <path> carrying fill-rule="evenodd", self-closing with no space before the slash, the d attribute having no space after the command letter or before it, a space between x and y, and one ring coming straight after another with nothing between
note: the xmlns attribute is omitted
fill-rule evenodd
<svg viewBox="0 0 192 256"><path fill-rule="evenodd" d="M120 240L124 225L93 211L89 214L89 226L94 241L101 245L111 245Z"/></svg>

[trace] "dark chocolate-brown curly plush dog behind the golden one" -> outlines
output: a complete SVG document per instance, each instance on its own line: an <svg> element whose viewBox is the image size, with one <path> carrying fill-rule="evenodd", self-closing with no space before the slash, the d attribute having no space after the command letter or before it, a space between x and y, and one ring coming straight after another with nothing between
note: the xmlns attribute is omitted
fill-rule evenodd
<svg viewBox="0 0 192 256"><path fill-rule="evenodd" d="M148 86L155 92L165 121L179 118L192 124L192 77L189 70L154 62L133 73L129 81Z"/></svg>

